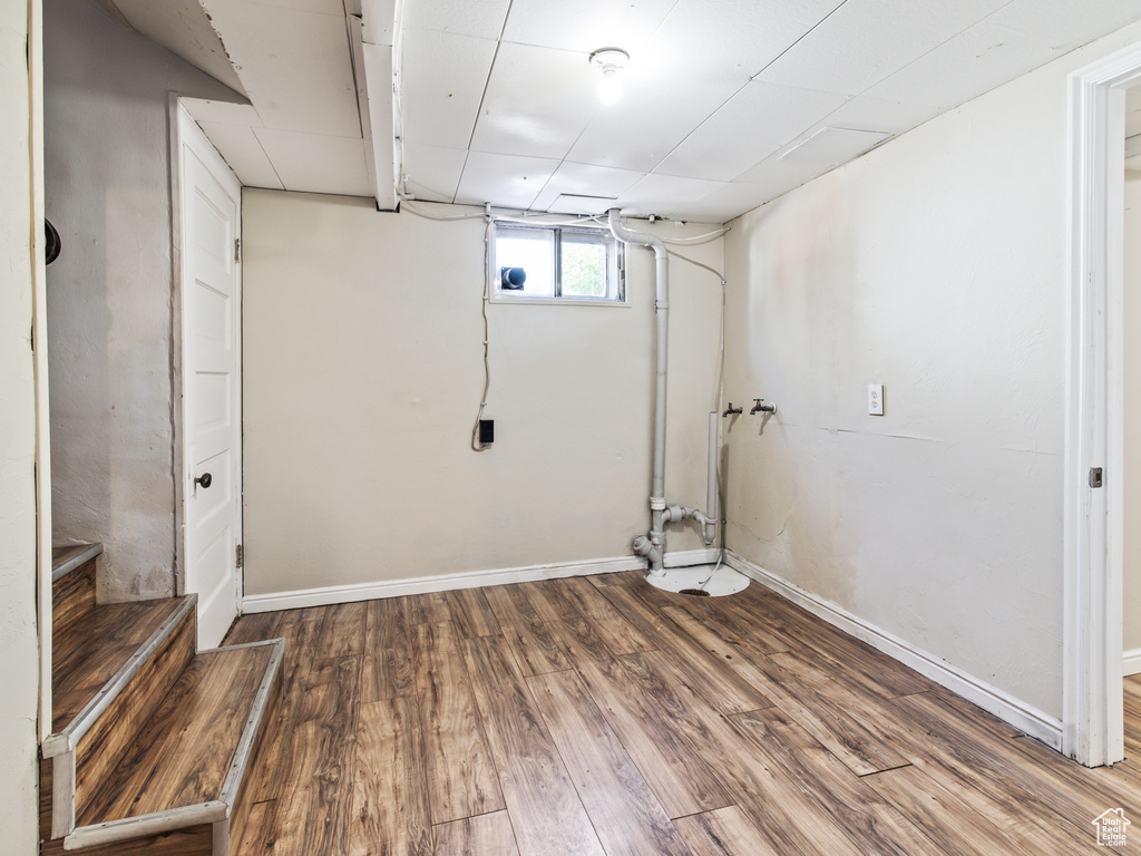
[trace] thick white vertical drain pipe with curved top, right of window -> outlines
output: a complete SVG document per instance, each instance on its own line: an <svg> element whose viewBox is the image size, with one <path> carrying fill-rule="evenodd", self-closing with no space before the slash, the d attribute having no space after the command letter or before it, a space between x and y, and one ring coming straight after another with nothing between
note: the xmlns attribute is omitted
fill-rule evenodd
<svg viewBox="0 0 1141 856"><path fill-rule="evenodd" d="M670 259L666 256L665 243L653 235L632 232L622 225L620 211L609 211L610 232L623 243L641 244L654 250L657 261L657 291L655 312L657 313L657 368L654 389L654 471L650 479L650 531L649 540L658 548L650 558L650 573L664 573L662 555L665 552L665 525L662 516L665 511L665 390L666 369L670 356Z"/></svg>

